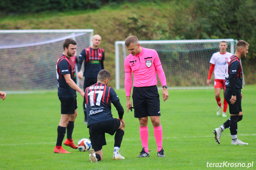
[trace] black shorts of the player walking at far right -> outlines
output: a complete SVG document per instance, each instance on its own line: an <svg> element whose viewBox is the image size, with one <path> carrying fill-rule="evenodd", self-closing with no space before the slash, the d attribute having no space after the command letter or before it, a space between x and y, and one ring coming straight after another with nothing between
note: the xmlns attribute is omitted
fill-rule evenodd
<svg viewBox="0 0 256 170"><path fill-rule="evenodd" d="M226 88L225 90L225 100L228 102L228 106L229 106L229 113L230 114L239 114L240 111L242 111L242 106L241 106L241 89L237 89L236 88L236 103L231 104L231 102L229 101L231 99L232 96L232 92L230 90L230 88Z"/></svg>

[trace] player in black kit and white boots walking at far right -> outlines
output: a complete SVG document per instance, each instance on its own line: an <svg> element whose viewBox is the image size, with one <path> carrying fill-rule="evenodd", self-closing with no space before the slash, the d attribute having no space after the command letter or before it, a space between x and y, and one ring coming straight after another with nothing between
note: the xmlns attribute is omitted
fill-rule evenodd
<svg viewBox="0 0 256 170"><path fill-rule="evenodd" d="M240 59L246 57L248 49L249 44L246 41L239 40L236 43L236 53L228 59L228 63L226 64L226 90L224 96L225 100L228 102L230 118L213 131L215 140L219 144L222 132L229 127L232 145L248 145L248 143L244 143L237 139L237 122L241 121L243 118L241 107L241 100L243 98L241 92L243 73Z"/></svg>

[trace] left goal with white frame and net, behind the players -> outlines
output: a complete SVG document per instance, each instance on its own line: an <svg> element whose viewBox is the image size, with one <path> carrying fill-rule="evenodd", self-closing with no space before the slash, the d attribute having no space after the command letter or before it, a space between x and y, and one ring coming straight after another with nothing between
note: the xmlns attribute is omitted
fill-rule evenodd
<svg viewBox="0 0 256 170"><path fill-rule="evenodd" d="M67 38L76 40L78 56L92 45L93 29L0 30L1 91L56 89L56 63Z"/></svg>

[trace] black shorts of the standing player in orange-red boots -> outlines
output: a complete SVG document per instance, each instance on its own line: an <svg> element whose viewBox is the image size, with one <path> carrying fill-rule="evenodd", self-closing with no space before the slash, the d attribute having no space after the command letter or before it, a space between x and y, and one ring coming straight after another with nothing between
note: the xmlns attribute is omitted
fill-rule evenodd
<svg viewBox="0 0 256 170"><path fill-rule="evenodd" d="M59 97L61 101L61 114L75 114L77 109L77 97Z"/></svg>

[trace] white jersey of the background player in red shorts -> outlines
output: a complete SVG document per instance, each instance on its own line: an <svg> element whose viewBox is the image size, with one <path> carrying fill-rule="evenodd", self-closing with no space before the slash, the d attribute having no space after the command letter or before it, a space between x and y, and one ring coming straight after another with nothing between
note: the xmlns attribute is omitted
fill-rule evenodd
<svg viewBox="0 0 256 170"><path fill-rule="evenodd" d="M213 53L212 58L210 59L211 64L215 64L214 66L214 78L219 80L225 80L225 71L226 64L228 59L233 54L226 52L225 54L221 54L220 51Z"/></svg>

